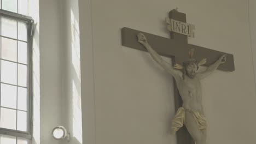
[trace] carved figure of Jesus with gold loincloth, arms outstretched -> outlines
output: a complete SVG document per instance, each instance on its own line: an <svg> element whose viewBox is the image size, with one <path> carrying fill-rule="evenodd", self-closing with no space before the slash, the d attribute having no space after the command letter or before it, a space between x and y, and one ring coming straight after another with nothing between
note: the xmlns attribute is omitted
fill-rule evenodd
<svg viewBox="0 0 256 144"><path fill-rule="evenodd" d="M219 64L225 63L226 55L221 56L205 71L197 73L197 69L200 65L206 63L206 59L202 59L201 62L197 63L196 60L192 58L193 51L189 52L190 61L183 62L183 65L176 64L173 67L152 49L144 34L139 33L137 37L138 42L146 47L154 61L160 64L168 74L171 74L177 83L183 106L178 109L176 116L172 119L172 133L176 133L179 128L185 125L196 144L206 144L206 118L203 115L202 109L200 80L212 74L213 71L218 68Z"/></svg>

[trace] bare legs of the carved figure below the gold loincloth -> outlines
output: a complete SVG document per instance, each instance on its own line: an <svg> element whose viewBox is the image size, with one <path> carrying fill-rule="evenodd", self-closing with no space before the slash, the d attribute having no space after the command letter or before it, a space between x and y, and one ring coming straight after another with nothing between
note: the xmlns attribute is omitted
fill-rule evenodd
<svg viewBox="0 0 256 144"><path fill-rule="evenodd" d="M206 130L199 129L191 112L186 111L185 118L185 127L187 127L189 134L195 140L196 144L206 144Z"/></svg>

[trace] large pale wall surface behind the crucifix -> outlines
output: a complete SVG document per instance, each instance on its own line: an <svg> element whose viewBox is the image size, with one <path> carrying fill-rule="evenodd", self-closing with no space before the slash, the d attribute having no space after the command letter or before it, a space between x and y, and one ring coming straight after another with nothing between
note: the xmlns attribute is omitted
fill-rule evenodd
<svg viewBox="0 0 256 144"><path fill-rule="evenodd" d="M174 116L172 77L148 53L121 46L120 29L169 38L164 20L176 7L196 26L190 44L232 53L235 59L235 71L218 70L202 81L208 143L255 142L248 1L80 0L84 142L175 142L168 133Z"/></svg>

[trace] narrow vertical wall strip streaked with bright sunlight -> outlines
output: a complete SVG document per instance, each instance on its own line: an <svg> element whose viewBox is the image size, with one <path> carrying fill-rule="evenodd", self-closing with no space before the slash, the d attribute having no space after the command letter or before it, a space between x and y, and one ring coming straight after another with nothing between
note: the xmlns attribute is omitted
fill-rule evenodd
<svg viewBox="0 0 256 144"><path fill-rule="evenodd" d="M80 35L78 0L62 1L63 104L62 119L72 144L82 144ZM65 143L65 141L62 141Z"/></svg>

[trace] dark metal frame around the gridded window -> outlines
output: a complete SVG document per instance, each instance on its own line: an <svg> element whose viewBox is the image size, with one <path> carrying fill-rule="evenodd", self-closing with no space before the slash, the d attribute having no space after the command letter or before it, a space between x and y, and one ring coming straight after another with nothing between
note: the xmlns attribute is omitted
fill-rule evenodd
<svg viewBox="0 0 256 144"><path fill-rule="evenodd" d="M0 17L6 17L12 20L24 22L27 24L27 131L19 131L19 130L13 130L13 129L5 129L0 128L0 135L8 135L8 136L15 136L19 138L24 138L31 140L32 139L32 133L33 133L33 109L32 109L32 101L33 101L33 91L32 91L32 39L33 39L33 29L34 29L34 20L30 16L14 13L11 11L0 9ZM18 23L17 22L17 23ZM2 29L1 29L2 30ZM18 31L18 30L17 30ZM1 35L2 37L2 35ZM18 40L18 38L17 38ZM17 59L18 63L18 59ZM18 77L17 77L18 79ZM18 83L17 83L18 85ZM16 117L18 118L18 117Z"/></svg>

